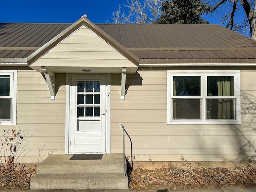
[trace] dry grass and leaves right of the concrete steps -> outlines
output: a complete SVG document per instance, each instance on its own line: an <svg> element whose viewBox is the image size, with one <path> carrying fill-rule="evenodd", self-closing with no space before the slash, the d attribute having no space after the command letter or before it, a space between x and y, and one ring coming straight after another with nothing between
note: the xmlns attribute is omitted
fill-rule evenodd
<svg viewBox="0 0 256 192"><path fill-rule="evenodd" d="M197 188L220 188L227 186L256 186L256 163L234 168L205 168L200 163L182 162L145 169L140 166L130 173L129 188L132 190L181 190Z"/></svg>

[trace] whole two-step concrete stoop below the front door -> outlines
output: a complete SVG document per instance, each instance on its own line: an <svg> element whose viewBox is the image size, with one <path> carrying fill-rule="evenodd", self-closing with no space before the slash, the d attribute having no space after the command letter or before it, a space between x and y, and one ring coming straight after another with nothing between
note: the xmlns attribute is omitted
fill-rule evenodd
<svg viewBox="0 0 256 192"><path fill-rule="evenodd" d="M50 155L37 166L32 190L127 189L123 155L103 154L102 160L69 160L72 155Z"/></svg>

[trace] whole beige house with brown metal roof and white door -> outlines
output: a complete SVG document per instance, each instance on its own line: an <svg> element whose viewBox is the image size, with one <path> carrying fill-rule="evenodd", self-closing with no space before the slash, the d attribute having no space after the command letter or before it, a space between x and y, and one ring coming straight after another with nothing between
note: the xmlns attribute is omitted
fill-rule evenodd
<svg viewBox="0 0 256 192"><path fill-rule="evenodd" d="M219 25L1 23L0 121L31 135L22 162L122 153L121 124L136 161L256 160L256 42Z"/></svg>

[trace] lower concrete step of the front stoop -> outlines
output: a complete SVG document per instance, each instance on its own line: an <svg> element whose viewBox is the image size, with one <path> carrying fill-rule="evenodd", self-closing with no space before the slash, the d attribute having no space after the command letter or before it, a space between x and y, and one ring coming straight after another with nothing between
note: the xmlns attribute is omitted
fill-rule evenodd
<svg viewBox="0 0 256 192"><path fill-rule="evenodd" d="M36 174L32 180L31 190L128 188L128 178L123 174Z"/></svg>

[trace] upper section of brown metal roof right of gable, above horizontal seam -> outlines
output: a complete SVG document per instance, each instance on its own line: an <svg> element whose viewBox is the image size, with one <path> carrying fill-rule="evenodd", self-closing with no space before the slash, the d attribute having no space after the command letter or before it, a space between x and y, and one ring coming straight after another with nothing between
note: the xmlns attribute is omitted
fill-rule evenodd
<svg viewBox="0 0 256 192"><path fill-rule="evenodd" d="M256 42L220 25L98 24L127 48L256 48Z"/></svg>

